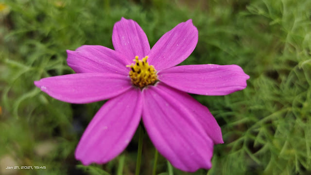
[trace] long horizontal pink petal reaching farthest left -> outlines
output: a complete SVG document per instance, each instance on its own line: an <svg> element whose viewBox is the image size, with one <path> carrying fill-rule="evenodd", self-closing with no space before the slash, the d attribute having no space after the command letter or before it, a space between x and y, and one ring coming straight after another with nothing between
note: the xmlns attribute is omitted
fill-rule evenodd
<svg viewBox="0 0 311 175"><path fill-rule="evenodd" d="M43 78L35 86L57 100L84 104L119 95L132 84L129 77L119 74L76 73Z"/></svg>

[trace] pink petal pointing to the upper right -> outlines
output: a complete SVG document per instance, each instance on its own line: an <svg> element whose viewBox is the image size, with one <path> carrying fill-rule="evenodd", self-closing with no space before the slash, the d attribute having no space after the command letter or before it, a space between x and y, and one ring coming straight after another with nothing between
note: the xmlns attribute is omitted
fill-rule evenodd
<svg viewBox="0 0 311 175"><path fill-rule="evenodd" d="M198 43L198 30L189 19L164 34L151 49L149 64L156 70L171 68L183 62Z"/></svg>

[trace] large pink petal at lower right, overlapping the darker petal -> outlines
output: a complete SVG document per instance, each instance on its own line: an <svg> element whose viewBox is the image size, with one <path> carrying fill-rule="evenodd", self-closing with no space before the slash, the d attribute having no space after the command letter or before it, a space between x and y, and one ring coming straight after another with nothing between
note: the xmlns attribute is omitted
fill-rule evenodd
<svg viewBox="0 0 311 175"><path fill-rule="evenodd" d="M213 140L197 120L193 104L181 100L182 95L176 98L166 90L159 85L143 90L142 119L151 141L159 153L180 170L209 169Z"/></svg>

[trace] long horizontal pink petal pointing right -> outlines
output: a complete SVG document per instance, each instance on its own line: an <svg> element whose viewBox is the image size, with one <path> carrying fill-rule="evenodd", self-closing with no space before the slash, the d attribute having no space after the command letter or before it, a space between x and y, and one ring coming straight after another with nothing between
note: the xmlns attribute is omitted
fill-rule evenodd
<svg viewBox="0 0 311 175"><path fill-rule="evenodd" d="M249 76L237 65L186 65L158 72L158 79L179 90L200 95L227 95L246 88Z"/></svg>

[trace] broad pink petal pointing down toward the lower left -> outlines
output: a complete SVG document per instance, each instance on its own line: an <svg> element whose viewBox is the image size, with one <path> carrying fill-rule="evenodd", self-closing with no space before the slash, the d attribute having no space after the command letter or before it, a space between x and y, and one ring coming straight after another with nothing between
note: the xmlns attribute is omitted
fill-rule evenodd
<svg viewBox="0 0 311 175"><path fill-rule="evenodd" d="M132 87L103 105L88 124L76 148L76 159L84 165L106 163L126 148L140 121L140 94Z"/></svg>

